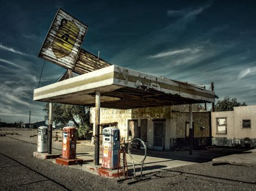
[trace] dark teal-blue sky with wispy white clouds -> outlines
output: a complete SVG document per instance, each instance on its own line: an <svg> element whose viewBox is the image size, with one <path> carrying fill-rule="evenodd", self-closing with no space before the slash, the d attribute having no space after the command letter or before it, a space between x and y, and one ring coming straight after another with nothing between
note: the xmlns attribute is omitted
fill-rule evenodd
<svg viewBox="0 0 256 191"><path fill-rule="evenodd" d="M220 100L256 104L255 1L1 0L2 121L28 122L29 110L32 122L44 119L44 103L32 101L44 62L37 54L59 8L89 26L83 48L112 64L207 89L214 82ZM46 61L41 86L64 72Z"/></svg>

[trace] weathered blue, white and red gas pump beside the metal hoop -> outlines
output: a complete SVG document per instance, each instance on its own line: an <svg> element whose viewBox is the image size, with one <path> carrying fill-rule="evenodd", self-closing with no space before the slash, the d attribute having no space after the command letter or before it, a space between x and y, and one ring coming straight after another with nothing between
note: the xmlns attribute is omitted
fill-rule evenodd
<svg viewBox="0 0 256 191"><path fill-rule="evenodd" d="M118 152L120 147L120 131L117 128L104 128L102 130L102 167L109 169L118 168Z"/></svg>

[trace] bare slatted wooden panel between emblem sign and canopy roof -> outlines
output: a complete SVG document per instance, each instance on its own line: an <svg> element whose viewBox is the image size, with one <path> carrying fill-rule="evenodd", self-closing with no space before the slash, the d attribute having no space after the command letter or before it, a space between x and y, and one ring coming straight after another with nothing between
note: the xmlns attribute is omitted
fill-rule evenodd
<svg viewBox="0 0 256 191"><path fill-rule="evenodd" d="M98 59L98 56L93 55L84 49L80 49L74 71L79 74L85 74L107 66L111 66L111 64L100 58Z"/></svg>

